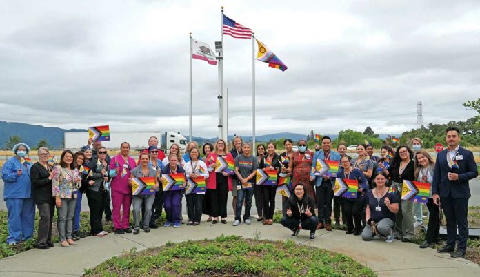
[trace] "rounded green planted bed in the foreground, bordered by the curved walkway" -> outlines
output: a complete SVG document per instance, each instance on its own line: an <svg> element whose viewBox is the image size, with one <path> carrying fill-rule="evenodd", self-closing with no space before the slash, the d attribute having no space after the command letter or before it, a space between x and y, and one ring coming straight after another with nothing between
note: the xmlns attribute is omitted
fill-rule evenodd
<svg viewBox="0 0 480 277"><path fill-rule="evenodd" d="M86 276L376 276L343 254L292 240L214 240L166 243L110 258Z"/></svg>

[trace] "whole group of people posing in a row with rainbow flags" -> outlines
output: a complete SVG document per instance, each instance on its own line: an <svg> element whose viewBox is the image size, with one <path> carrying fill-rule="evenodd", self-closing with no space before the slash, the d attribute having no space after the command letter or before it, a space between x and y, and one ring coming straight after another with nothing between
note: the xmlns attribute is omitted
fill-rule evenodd
<svg viewBox="0 0 480 277"><path fill-rule="evenodd" d="M50 152L46 147L38 150L39 161L25 162L30 148L19 143L13 148L15 156L2 169L5 183L4 196L8 208L8 243L19 243L32 238L34 205L40 214L37 247L52 247L52 218L57 207L58 231L63 247L76 245L79 239L79 214L83 193L90 208L90 233L106 236L102 218L113 220L117 234L139 234L157 228L162 209L166 212L165 227L180 227L183 223L181 202L186 198L188 220L186 225L199 225L202 214L208 222L226 224L228 194L232 195L234 226L251 224L250 210L253 197L257 207L257 221L273 224L275 211L274 185L257 185L257 169L276 171L278 177L291 177L290 197L282 196L281 224L297 236L301 229L315 238L317 229L332 230L332 210L335 225L346 225L346 234L361 235L363 240L375 236L392 242L399 238L409 242L414 237L414 225L421 220L420 203L401 201L403 181L430 183L426 248L439 241L440 209L446 216L448 240L439 252L454 252L459 229L459 242L452 254L464 256L468 238L467 209L470 190L468 180L478 175L472 152L459 146L460 132L455 127L446 131L448 149L439 152L434 162L430 154L421 149L421 139L412 139L410 146L392 149L381 147L381 157L373 155L372 145L357 145L356 158L346 154L346 145L340 143L337 152L332 140L321 138L318 149L308 150L307 141L283 141L285 151L277 154L276 145L257 145L256 156L252 145L235 136L231 151L227 142L219 139L214 145L205 143L199 150L194 141L188 143L185 154L173 143L166 156L157 148L158 139L152 136L150 147L141 152L136 161L130 156L130 145L120 145L120 153L110 158L98 141L88 141L81 151L65 150L59 164L48 163ZM93 145L90 146L90 145ZM317 147L316 147L317 148ZM203 158L202 158L203 156ZM218 172L217 159L234 161L232 172ZM338 161L336 177L319 174L315 170L321 160ZM206 190L186 194L183 189L163 192L165 174L181 173L187 178L206 180ZM154 177L154 194L132 195L132 178ZM355 180L356 198L334 196L335 178ZM110 211L110 199L112 209ZM333 204L333 205L332 205ZM130 207L133 207L133 225L130 225ZM244 212L242 216L242 209ZM419 213L418 213L419 209ZM341 216L341 221L340 221Z"/></svg>

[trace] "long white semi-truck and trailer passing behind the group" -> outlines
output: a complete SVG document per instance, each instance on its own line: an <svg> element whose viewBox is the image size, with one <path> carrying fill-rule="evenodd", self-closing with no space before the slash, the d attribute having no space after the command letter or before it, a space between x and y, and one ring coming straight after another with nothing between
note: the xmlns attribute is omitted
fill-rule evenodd
<svg viewBox="0 0 480 277"><path fill-rule="evenodd" d="M187 139L181 134L175 132L110 132L110 141L102 141L102 145L108 149L120 149L124 141L130 143L132 150L144 150L148 148L148 139L150 136L157 136L159 139L158 147L168 152L172 143L180 145L180 152L185 152ZM65 149L79 150L88 143L88 132L65 132Z"/></svg>

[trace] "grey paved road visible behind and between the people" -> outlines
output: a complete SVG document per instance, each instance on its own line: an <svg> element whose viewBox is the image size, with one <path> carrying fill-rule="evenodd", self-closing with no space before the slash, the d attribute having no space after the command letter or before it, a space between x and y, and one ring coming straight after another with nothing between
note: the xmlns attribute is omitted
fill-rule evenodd
<svg viewBox="0 0 480 277"><path fill-rule="evenodd" d="M472 192L472 197L468 202L470 206L480 206L480 177L474 178L474 180L470 181L470 191ZM0 179L0 195L3 196L3 181ZM276 206L277 209L281 209L281 195L277 194L276 196ZM183 203L183 214L186 214L186 201L185 199L182 201ZM0 210L6 209L5 201L0 201ZM88 211L88 203L87 198L84 196L83 201L81 203L81 209L83 211ZM232 196L229 193L228 195L228 204L227 204L227 211L229 215L234 214L232 209ZM252 203L252 216L257 216L257 209L255 209L255 201L253 200Z"/></svg>

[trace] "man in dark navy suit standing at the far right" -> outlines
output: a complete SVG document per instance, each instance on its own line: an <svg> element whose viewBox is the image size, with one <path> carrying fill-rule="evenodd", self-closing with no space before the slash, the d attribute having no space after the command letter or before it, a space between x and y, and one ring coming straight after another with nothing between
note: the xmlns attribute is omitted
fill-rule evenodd
<svg viewBox="0 0 480 277"><path fill-rule="evenodd" d="M446 143L448 148L437 154L433 173L433 202L440 205L447 220L447 243L437 252L453 252L453 258L463 257L466 253L468 238L468 198L470 187L468 180L478 176L477 164L473 153L459 146L460 132L457 127L448 127ZM459 242L455 250L459 228Z"/></svg>

